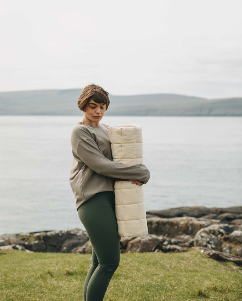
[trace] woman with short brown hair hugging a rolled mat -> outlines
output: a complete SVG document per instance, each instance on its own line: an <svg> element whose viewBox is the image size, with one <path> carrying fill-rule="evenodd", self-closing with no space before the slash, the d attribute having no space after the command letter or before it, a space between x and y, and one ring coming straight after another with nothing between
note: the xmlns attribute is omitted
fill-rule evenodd
<svg viewBox="0 0 242 301"><path fill-rule="evenodd" d="M77 200L80 221L93 247L92 265L84 282L84 301L103 300L119 265L115 178L143 185L150 177L143 164L128 166L112 161L108 126L99 123L109 103L108 92L103 88L95 84L85 87L77 102L84 115L71 134L74 158L70 185Z"/></svg>

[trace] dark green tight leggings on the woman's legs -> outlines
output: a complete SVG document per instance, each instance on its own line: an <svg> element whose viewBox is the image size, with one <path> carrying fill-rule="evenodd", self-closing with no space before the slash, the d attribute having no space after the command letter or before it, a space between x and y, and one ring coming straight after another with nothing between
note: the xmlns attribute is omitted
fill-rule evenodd
<svg viewBox="0 0 242 301"><path fill-rule="evenodd" d="M120 247L115 217L114 192L99 192L78 208L80 221L93 247L92 265L87 273L84 301L102 301L119 265Z"/></svg>

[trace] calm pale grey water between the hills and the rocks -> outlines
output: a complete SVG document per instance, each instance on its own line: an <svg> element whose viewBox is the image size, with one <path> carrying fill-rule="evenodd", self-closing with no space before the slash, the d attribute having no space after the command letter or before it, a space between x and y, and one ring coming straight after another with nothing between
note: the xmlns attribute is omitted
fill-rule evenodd
<svg viewBox="0 0 242 301"><path fill-rule="evenodd" d="M0 234L83 226L69 185L81 116L0 116ZM140 124L146 209L242 205L242 117L105 116Z"/></svg>

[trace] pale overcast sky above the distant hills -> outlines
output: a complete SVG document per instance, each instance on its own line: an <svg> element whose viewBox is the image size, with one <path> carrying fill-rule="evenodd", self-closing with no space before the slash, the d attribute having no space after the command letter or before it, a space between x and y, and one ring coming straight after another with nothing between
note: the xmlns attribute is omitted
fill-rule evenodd
<svg viewBox="0 0 242 301"><path fill-rule="evenodd" d="M241 0L1 0L0 91L242 97Z"/></svg>

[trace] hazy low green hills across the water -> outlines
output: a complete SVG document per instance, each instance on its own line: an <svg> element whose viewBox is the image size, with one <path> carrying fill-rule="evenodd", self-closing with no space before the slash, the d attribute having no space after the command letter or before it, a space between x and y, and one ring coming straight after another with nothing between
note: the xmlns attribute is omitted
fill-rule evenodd
<svg viewBox="0 0 242 301"><path fill-rule="evenodd" d="M0 115L79 115L81 89L0 92ZM242 97L206 99L179 94L110 96L106 115L242 116Z"/></svg>

